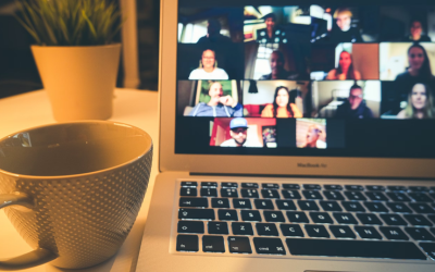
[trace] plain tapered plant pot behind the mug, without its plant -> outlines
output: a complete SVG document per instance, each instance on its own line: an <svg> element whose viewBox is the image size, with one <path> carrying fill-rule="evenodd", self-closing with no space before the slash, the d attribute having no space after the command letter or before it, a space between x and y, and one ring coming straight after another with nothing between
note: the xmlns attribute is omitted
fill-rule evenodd
<svg viewBox="0 0 435 272"><path fill-rule="evenodd" d="M32 46L54 119L105 120L112 115L121 45Z"/></svg>

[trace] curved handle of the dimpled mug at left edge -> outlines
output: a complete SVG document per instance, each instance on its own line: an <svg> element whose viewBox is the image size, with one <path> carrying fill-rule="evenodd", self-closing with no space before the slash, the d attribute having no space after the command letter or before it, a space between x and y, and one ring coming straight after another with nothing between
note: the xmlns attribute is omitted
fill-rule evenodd
<svg viewBox="0 0 435 272"><path fill-rule="evenodd" d="M33 208L34 202L25 194L8 194L0 195L0 209L9 206L23 206L26 208ZM0 261L0 270L21 270L37 267L58 258L53 252L38 248L30 252L24 254L22 256L13 257L8 260Z"/></svg>

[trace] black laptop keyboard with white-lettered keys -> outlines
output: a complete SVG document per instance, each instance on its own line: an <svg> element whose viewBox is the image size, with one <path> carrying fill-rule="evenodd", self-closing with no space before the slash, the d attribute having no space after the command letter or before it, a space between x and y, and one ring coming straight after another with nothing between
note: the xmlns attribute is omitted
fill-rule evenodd
<svg viewBox="0 0 435 272"><path fill-rule="evenodd" d="M435 187L184 181L177 215L176 251L435 260Z"/></svg>

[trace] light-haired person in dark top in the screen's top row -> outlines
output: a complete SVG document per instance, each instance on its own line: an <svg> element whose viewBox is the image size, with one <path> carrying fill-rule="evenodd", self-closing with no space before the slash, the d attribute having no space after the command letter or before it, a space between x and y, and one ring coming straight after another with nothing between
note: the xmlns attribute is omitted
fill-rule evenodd
<svg viewBox="0 0 435 272"><path fill-rule="evenodd" d="M339 8L334 13L335 25L327 36L330 42L363 42L361 33L351 26L352 12L348 8Z"/></svg>

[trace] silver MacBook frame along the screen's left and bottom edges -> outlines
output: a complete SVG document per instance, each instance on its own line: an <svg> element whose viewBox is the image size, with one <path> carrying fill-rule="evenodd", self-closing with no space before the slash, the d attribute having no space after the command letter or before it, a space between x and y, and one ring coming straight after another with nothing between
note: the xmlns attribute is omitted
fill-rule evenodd
<svg viewBox="0 0 435 272"><path fill-rule="evenodd" d="M308 176L435 177L435 168L433 168L435 159L175 153L177 24L178 1L162 0L159 71L160 171Z"/></svg>

